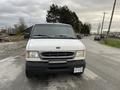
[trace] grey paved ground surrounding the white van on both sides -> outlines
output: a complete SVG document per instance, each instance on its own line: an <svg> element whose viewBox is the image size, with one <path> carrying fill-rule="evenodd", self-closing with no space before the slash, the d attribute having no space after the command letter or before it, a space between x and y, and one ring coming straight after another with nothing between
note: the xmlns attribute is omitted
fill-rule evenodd
<svg viewBox="0 0 120 90"><path fill-rule="evenodd" d="M82 39L87 68L82 76L53 74L27 79L25 45L0 43L0 90L120 90L120 49Z"/></svg>

